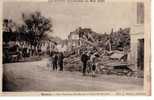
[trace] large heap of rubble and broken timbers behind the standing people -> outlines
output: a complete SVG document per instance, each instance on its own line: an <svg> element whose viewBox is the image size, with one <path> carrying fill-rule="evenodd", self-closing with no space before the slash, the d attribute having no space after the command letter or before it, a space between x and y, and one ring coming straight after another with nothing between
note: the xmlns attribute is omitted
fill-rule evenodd
<svg viewBox="0 0 154 100"><path fill-rule="evenodd" d="M124 56L124 48L130 45L129 28L120 29L117 32L113 32L112 30L111 34L99 34L89 28L79 27L79 29L71 32L71 35L73 34L79 35L79 38L77 38L78 43L73 46L71 51L68 51L67 56L65 56L65 70L81 71L82 63L80 57L83 51L98 53L99 57L96 62L98 73L107 73L102 69L108 67L108 63L115 65L120 63L120 65L123 65L121 64L121 59ZM69 39L71 39L70 37L71 36L69 36ZM123 42L123 44L120 46L121 42ZM117 50L115 50L115 48L117 48Z"/></svg>

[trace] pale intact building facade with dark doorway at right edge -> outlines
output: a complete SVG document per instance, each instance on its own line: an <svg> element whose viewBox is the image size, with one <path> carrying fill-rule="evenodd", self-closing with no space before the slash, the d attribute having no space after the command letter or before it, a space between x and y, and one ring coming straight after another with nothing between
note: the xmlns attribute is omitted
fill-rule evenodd
<svg viewBox="0 0 154 100"><path fill-rule="evenodd" d="M135 18L131 26L130 63L134 70L144 70L144 3L137 3Z"/></svg>

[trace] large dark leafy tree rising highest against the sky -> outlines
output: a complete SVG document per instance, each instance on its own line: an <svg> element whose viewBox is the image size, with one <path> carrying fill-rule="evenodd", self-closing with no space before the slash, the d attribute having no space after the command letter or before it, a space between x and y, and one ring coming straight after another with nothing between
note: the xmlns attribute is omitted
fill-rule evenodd
<svg viewBox="0 0 154 100"><path fill-rule="evenodd" d="M52 32L52 23L49 18L41 15L36 11L31 14L22 14L24 24L19 28L23 39L36 45L44 37L47 37L47 32Z"/></svg>

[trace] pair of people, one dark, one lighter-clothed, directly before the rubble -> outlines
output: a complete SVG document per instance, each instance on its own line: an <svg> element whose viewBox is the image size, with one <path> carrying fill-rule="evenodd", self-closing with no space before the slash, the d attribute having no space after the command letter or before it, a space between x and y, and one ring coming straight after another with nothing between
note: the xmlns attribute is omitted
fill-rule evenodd
<svg viewBox="0 0 154 100"><path fill-rule="evenodd" d="M95 76L96 72L96 58L99 57L97 53L92 52L83 52L81 55L81 62L82 62L82 73L83 76L86 75L86 72L92 72L92 76ZM87 69L89 71L87 71Z"/></svg>

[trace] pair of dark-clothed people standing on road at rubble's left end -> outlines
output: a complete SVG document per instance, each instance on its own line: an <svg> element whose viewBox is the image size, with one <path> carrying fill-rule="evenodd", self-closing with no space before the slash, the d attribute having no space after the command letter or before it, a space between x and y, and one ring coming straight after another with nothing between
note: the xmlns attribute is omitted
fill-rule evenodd
<svg viewBox="0 0 154 100"><path fill-rule="evenodd" d="M63 52L50 52L48 67L51 67L53 71L63 71L63 59Z"/></svg>

